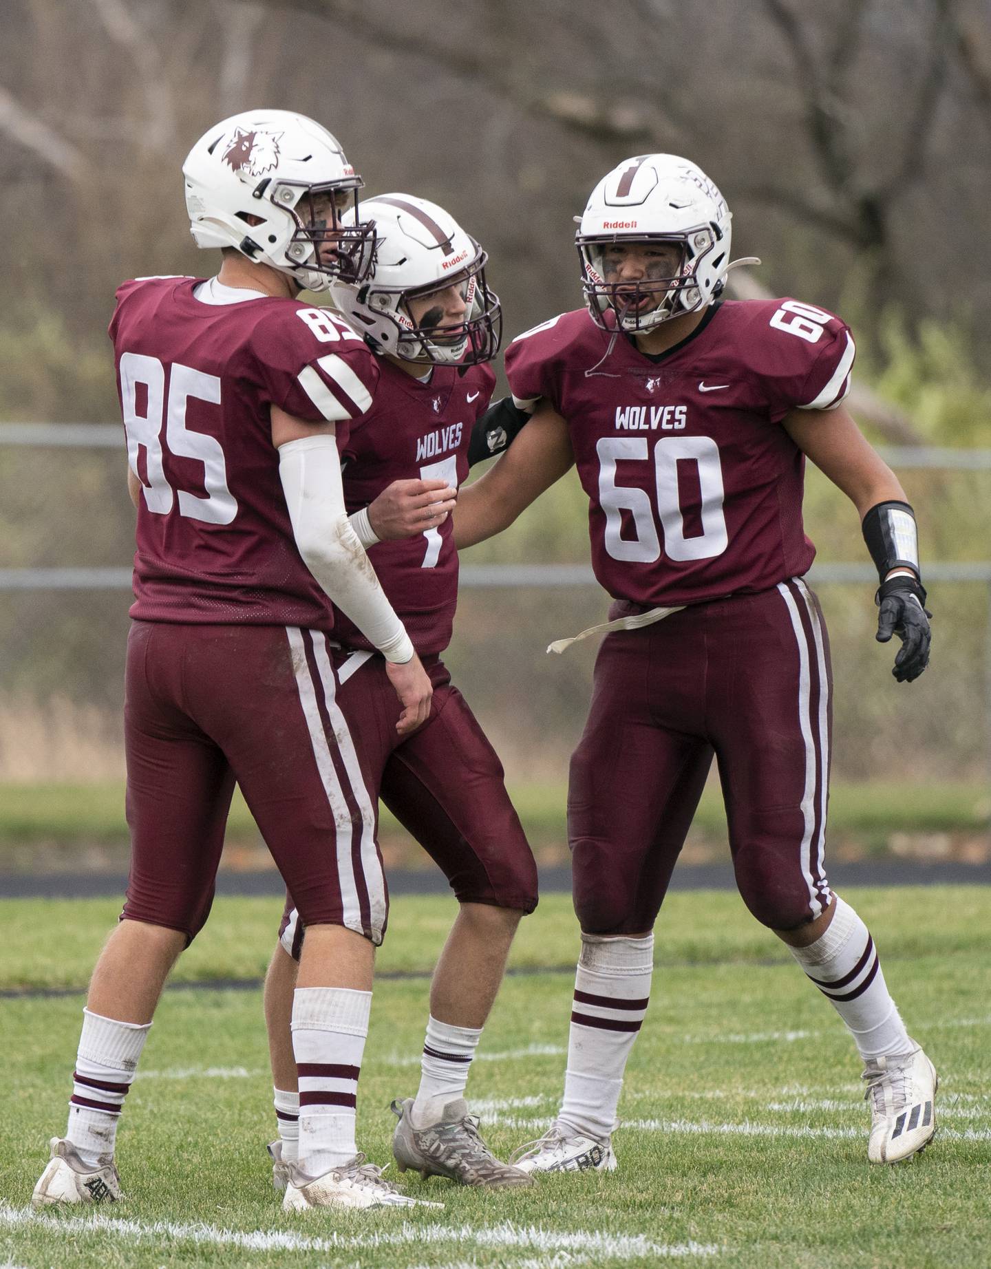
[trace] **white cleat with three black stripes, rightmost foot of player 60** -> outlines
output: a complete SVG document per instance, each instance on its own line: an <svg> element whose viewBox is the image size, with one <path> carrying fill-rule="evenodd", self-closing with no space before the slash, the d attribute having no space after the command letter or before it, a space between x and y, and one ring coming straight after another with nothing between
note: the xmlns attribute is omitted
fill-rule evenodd
<svg viewBox="0 0 991 1269"><path fill-rule="evenodd" d="M870 1103L872 1164L900 1164L929 1145L936 1131L936 1070L921 1048L864 1063Z"/></svg>

